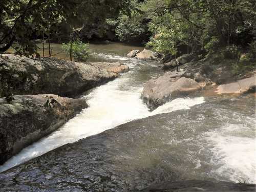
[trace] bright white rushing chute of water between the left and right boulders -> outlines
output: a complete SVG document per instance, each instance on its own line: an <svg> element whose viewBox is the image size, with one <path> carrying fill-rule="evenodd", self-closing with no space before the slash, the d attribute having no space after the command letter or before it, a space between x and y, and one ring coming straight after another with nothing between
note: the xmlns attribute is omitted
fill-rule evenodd
<svg viewBox="0 0 256 192"><path fill-rule="evenodd" d="M112 129L119 124L159 113L189 109L192 105L204 102L203 97L175 99L151 113L140 99L143 88L126 86L129 77L129 73L125 73L120 78L96 88L84 97L89 99L88 109L68 121L61 129L24 148L0 166L0 172L59 146Z"/></svg>

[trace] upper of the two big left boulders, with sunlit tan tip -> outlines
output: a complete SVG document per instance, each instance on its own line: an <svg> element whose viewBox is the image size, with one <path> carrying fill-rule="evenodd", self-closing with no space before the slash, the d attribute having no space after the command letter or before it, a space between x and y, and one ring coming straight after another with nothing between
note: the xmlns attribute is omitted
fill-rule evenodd
<svg viewBox="0 0 256 192"><path fill-rule="evenodd" d="M9 80L14 95L51 93L75 97L115 79L119 71L127 70L120 63L102 62L100 65L56 58L33 60L11 54L3 54L0 63L0 78Z"/></svg>

